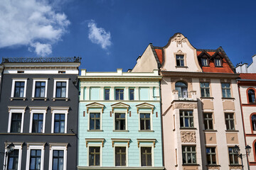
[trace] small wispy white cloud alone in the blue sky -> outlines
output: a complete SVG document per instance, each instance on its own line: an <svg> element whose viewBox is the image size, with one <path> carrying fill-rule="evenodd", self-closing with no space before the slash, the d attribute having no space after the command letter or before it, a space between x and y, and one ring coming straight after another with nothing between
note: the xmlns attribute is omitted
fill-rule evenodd
<svg viewBox="0 0 256 170"><path fill-rule="evenodd" d="M104 28L97 28L97 24L93 20L88 23L88 28L88 38L91 42L100 45L103 49L107 50L107 47L112 44L110 41L110 32L107 32Z"/></svg>

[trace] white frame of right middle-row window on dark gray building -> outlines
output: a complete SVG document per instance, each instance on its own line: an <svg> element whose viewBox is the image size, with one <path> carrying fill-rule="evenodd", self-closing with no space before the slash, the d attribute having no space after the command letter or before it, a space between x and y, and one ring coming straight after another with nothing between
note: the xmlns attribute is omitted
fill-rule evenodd
<svg viewBox="0 0 256 170"><path fill-rule="evenodd" d="M55 114L65 114L65 130L64 133L67 133L68 128L68 109L69 107L50 107L52 110L52 125L51 125L51 133L54 133L54 118Z"/></svg>

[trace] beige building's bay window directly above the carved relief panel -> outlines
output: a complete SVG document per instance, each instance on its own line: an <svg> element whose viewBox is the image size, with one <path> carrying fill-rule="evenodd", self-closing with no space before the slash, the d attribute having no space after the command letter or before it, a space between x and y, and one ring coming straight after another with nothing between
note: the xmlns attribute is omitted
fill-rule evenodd
<svg viewBox="0 0 256 170"><path fill-rule="evenodd" d="M193 128L193 111L180 111L181 128Z"/></svg>

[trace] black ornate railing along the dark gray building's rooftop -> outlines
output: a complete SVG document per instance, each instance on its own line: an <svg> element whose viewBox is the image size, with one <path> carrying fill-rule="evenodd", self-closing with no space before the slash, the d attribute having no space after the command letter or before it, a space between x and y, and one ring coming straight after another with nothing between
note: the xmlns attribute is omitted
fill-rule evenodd
<svg viewBox="0 0 256 170"><path fill-rule="evenodd" d="M2 63L80 62L81 57L3 57Z"/></svg>

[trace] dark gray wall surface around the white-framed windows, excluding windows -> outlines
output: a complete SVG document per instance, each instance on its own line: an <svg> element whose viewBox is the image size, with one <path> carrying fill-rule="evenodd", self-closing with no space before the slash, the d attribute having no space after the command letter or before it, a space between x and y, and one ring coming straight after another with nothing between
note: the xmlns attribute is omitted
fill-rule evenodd
<svg viewBox="0 0 256 170"><path fill-rule="evenodd" d="M47 142L44 157L44 169L48 169L49 164L49 146L50 142L67 142L68 145L68 158L67 158L67 169L77 169L78 160L78 83L73 84L73 81L77 78L76 74L3 74L2 75L2 86L0 96L0 152L4 152L4 142L24 142L22 149L22 162L21 169L26 169L26 142ZM11 101L11 85L12 78L28 78L27 89L26 89L26 101L14 100ZM35 100L31 101L32 89L33 89L33 78L48 78L48 91L47 101ZM68 82L68 101L53 101L53 78L69 78ZM12 134L7 133L8 122L9 122L9 111L8 106L27 106L26 113L24 115L23 133ZM33 135L29 132L30 123L30 111L31 106L48 106L46 113L46 129L42 135ZM50 112L50 106L63 106L70 107L68 111L68 127L67 134L51 134L51 123L52 114ZM73 129L71 132L70 129ZM0 169L4 167L4 154L0 154Z"/></svg>

